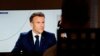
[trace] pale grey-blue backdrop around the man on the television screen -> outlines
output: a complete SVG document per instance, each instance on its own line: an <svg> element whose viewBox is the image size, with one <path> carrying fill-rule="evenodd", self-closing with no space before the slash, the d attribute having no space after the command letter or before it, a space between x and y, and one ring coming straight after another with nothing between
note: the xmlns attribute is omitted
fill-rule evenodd
<svg viewBox="0 0 100 56"><path fill-rule="evenodd" d="M0 52L11 52L21 32L31 29L29 17L33 12L45 14L45 30L55 33L61 9L48 10L0 10Z"/></svg>

